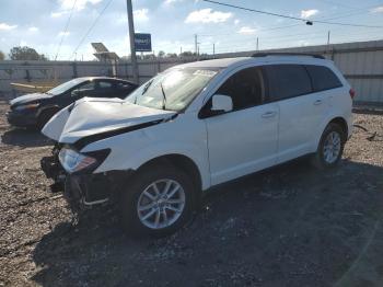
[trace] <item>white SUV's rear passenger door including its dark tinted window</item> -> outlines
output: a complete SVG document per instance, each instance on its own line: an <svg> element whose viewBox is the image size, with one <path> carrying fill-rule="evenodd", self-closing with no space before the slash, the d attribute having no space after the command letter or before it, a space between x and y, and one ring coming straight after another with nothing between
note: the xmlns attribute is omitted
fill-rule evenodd
<svg viewBox="0 0 383 287"><path fill-rule="evenodd" d="M313 133L326 108L323 93L314 93L306 68L302 65L266 66L269 102L279 105L278 163L310 152Z"/></svg>

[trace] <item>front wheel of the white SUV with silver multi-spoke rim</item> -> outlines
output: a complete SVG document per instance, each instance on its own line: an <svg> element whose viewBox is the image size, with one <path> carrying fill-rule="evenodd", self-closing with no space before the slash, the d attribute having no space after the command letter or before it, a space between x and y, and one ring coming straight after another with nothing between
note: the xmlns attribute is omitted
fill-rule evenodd
<svg viewBox="0 0 383 287"><path fill-rule="evenodd" d="M190 177L175 167L143 168L121 194L124 228L136 236L171 234L189 220L195 194Z"/></svg>

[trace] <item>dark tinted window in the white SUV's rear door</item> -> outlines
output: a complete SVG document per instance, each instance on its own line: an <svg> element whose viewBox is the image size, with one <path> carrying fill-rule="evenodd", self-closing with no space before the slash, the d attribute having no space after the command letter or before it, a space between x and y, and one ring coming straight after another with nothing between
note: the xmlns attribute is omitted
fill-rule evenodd
<svg viewBox="0 0 383 287"><path fill-rule="evenodd" d="M311 79L301 65L265 66L270 87L269 101L290 99L312 92Z"/></svg>

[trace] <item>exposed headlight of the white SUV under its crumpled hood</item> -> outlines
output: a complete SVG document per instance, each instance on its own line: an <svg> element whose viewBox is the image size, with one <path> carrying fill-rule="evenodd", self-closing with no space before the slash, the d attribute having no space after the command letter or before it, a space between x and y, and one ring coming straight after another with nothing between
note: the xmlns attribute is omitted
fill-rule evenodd
<svg viewBox="0 0 383 287"><path fill-rule="evenodd" d="M94 171L107 157L109 149L81 153L69 147L63 147L59 154L59 161L68 173L80 171Z"/></svg>

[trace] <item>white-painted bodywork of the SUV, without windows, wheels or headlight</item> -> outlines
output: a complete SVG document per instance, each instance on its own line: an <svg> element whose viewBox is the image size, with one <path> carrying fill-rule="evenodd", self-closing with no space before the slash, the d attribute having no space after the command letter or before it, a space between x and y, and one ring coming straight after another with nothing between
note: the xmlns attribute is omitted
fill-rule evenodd
<svg viewBox="0 0 383 287"><path fill-rule="evenodd" d="M302 64L329 67L344 88L297 96L246 110L201 119L198 113L230 76L244 68L271 64ZM316 151L322 133L335 117L352 131L350 89L328 60L312 57L262 57L201 61L183 67L222 68L174 119L120 134L85 146L81 152L111 149L94 171L137 170L146 162L166 154L182 154L195 162L202 190ZM173 68L172 68L173 69ZM315 104L316 101L321 104ZM272 116L264 116L271 113ZM43 133L61 142L73 144L84 136L130 127L175 113L125 103L123 100L84 99L57 114Z"/></svg>

